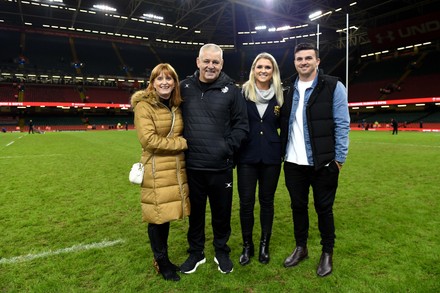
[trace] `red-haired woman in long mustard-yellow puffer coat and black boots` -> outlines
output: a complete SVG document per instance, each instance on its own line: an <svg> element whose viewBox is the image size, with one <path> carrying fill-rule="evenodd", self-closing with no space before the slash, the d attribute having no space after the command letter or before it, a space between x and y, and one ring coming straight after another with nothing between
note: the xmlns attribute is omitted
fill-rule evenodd
<svg viewBox="0 0 440 293"><path fill-rule="evenodd" d="M190 213L181 102L179 78L167 63L157 65L147 89L131 97L145 167L141 184L142 220L148 223L155 265L165 280L173 281L180 277L179 268L168 258L170 221Z"/></svg>

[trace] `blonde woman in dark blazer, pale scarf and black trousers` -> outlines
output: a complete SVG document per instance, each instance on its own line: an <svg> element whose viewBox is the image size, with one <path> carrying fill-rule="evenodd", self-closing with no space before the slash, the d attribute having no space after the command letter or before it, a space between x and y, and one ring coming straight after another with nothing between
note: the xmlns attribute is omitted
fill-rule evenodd
<svg viewBox="0 0 440 293"><path fill-rule="evenodd" d="M283 89L275 58L259 54L253 61L249 80L243 85L249 119L249 135L238 156L237 186L243 252L246 265L254 255L253 227L255 193L260 203L260 250L258 260L269 263L269 242L274 217L274 197L281 171L281 141L278 134ZM258 183L258 184L257 184Z"/></svg>

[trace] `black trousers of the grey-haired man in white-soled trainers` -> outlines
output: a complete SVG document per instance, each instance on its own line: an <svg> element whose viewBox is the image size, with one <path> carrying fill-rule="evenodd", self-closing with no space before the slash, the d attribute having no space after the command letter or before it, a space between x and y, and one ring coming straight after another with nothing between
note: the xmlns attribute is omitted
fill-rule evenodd
<svg viewBox="0 0 440 293"><path fill-rule="evenodd" d="M202 252L205 247L205 214L209 198L216 252L229 253L231 235L232 169L224 171L186 170L190 190L188 252Z"/></svg>

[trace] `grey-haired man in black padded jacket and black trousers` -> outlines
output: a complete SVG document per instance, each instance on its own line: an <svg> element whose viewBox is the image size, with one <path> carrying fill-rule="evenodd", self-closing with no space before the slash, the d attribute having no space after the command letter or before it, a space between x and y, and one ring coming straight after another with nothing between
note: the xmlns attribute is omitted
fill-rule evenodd
<svg viewBox="0 0 440 293"><path fill-rule="evenodd" d="M223 51L204 45L196 59L198 70L181 82L185 153L191 215L189 257L183 273L196 271L205 263L205 213L209 199L214 234L214 261L222 273L233 263L227 245L231 234L232 169L234 154L249 131L246 104L240 89L221 70Z"/></svg>

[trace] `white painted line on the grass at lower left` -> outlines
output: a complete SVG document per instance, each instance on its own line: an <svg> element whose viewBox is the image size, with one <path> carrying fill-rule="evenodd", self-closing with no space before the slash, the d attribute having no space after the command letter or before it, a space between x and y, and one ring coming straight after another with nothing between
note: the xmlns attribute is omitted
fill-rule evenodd
<svg viewBox="0 0 440 293"><path fill-rule="evenodd" d="M91 244L78 244L71 247L58 249L58 250L49 250L42 253L37 254L28 254L28 255L22 255L22 256L15 256L11 258L1 258L0 264L11 264L11 263L19 263L19 262L25 262L30 261L36 258L42 258L42 257L49 257L54 256L58 254L63 253L72 253L72 252L78 252L78 251L85 251L90 249L100 249L105 248L109 246L114 246L119 243L124 243L125 241L122 239L114 240L114 241L102 241L102 242L95 242Z"/></svg>

